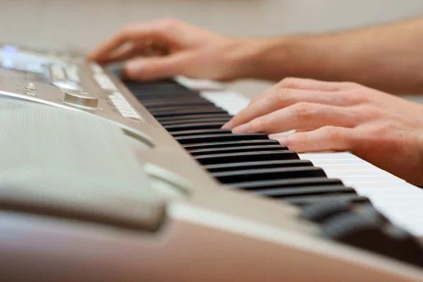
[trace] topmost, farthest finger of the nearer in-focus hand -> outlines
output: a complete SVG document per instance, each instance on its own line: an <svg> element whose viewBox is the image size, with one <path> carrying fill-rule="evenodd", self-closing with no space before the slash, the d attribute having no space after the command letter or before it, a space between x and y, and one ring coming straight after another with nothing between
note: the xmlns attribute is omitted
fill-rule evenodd
<svg viewBox="0 0 423 282"><path fill-rule="evenodd" d="M312 90L319 92L338 92L354 87L354 83L351 82L328 82L321 80L312 80L308 78L285 78L278 84L274 85L269 91L264 94L252 99L252 103L255 103L261 99L266 99L269 94L274 92L276 89L297 89L297 90Z"/></svg>

